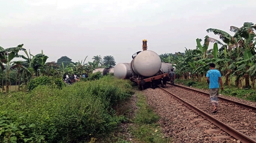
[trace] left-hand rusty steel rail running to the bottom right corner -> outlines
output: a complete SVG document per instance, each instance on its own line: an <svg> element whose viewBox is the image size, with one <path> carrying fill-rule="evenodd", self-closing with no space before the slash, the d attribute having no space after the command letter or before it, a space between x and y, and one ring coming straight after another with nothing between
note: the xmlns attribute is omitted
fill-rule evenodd
<svg viewBox="0 0 256 143"><path fill-rule="evenodd" d="M161 88L161 87L159 87L159 88L164 90L164 91L166 91L167 93L171 94L172 96L174 96L175 98L180 100L182 103L184 103L186 106L191 108L194 112L200 114L202 117L206 118L208 121L213 123L215 126L217 126L220 129L224 130L226 133L228 133L229 135L233 136L237 140L240 140L242 143L256 143L256 140L250 138L249 136L241 133L240 131L238 131L238 130L236 130L236 129L228 126L228 125L226 125L224 122L222 122L220 120L217 120L216 118L214 118L210 114L207 114L206 112L200 110L199 108L197 108L194 105L188 103L187 101L181 99L180 97L174 95L173 93L167 91L166 89Z"/></svg>

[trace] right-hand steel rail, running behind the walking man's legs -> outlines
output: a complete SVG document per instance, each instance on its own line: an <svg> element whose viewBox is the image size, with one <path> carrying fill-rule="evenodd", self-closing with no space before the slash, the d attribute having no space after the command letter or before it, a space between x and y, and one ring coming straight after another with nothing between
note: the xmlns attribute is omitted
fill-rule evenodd
<svg viewBox="0 0 256 143"><path fill-rule="evenodd" d="M168 83L168 84L170 84L170 83ZM203 93L203 94L205 94L207 96L210 96L209 93L207 93L207 92L199 91L199 90L196 90L196 89L188 88L188 87L177 85L177 84L175 84L175 86L178 86L178 87L181 87L181 88L185 88L185 89L189 89L189 90L193 90L193 91L196 91L196 92ZM218 98L223 100L223 101L227 101L227 102L230 102L230 103L233 103L233 104L236 104L236 105L239 105L239 106L251 109L253 111L256 111L256 107L255 106L251 106L251 105L248 105L248 104L240 103L240 102L237 102L237 101L234 101L234 100L230 100L230 99L227 99L227 98L224 98L224 97L218 97Z"/></svg>

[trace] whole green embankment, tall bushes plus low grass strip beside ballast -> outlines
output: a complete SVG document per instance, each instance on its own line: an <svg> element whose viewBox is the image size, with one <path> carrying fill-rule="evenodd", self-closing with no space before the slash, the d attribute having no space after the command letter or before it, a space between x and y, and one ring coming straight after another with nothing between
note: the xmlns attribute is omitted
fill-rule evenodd
<svg viewBox="0 0 256 143"><path fill-rule="evenodd" d="M62 86L39 77L29 87L30 92L0 93L0 142L125 143L122 134L113 136L122 122L132 123L128 129L137 142L170 140L162 138L159 117L144 95L136 93L136 117L125 116L131 110L125 103L134 93L130 81L105 76Z"/></svg>

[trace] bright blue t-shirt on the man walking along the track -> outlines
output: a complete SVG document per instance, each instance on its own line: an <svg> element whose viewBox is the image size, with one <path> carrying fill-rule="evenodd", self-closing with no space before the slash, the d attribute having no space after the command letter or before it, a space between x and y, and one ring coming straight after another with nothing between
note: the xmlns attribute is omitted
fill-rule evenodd
<svg viewBox="0 0 256 143"><path fill-rule="evenodd" d="M210 69L207 71L206 77L209 77L209 88L219 88L219 77L221 77L220 71L217 69Z"/></svg>

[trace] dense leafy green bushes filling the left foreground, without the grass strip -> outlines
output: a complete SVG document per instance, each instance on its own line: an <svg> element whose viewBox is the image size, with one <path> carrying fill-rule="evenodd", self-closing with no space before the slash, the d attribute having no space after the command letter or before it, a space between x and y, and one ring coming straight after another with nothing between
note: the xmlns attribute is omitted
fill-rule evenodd
<svg viewBox="0 0 256 143"><path fill-rule="evenodd" d="M44 83L50 80L39 79ZM2 94L0 111L5 113L0 115L0 128L4 129L0 141L79 142L102 137L125 120L112 106L132 93L130 82L105 76L63 89L37 85L28 93Z"/></svg>

